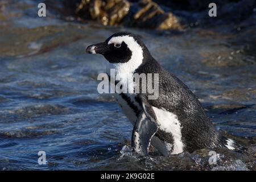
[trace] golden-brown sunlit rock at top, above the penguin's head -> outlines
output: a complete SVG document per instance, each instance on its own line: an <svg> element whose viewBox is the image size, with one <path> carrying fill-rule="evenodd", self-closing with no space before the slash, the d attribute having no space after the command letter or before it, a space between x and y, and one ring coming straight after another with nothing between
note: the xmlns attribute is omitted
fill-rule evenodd
<svg viewBox="0 0 256 182"><path fill-rule="evenodd" d="M85 19L95 19L104 25L125 24L131 27L182 30L179 18L165 12L157 3L142 0L131 3L126 0L83 0L76 13Z"/></svg>

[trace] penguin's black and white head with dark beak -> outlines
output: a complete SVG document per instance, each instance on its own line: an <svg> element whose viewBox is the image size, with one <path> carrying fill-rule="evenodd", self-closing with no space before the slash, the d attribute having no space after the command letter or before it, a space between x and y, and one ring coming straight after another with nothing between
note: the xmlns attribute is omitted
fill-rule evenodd
<svg viewBox="0 0 256 182"><path fill-rule="evenodd" d="M142 64L145 51L147 48L141 39L129 32L115 33L105 42L92 44L86 49L87 53L103 55L109 63L136 64L138 66Z"/></svg>

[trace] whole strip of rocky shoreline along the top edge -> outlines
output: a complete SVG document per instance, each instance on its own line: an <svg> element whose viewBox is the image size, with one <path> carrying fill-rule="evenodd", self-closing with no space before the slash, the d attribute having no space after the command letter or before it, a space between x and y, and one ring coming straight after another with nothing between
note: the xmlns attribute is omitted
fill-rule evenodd
<svg viewBox="0 0 256 182"><path fill-rule="evenodd" d="M64 5L72 8L73 14L78 18L96 20L105 26L122 24L126 27L178 31L226 23L255 26L255 0L214 1L217 5L217 17L208 16L210 2L212 1L187 0L180 3L161 0L64 0Z"/></svg>

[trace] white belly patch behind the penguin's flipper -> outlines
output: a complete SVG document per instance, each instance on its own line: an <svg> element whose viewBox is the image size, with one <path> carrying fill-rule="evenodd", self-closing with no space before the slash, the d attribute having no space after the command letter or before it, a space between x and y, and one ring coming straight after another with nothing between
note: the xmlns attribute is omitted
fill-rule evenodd
<svg viewBox="0 0 256 182"><path fill-rule="evenodd" d="M157 107L152 108L158 119L159 129L166 133L170 133L174 139L173 146L170 146L168 143L166 144L167 146L170 146L170 150L173 147L171 154L179 154L183 152L184 144L182 142L181 126L177 116L164 109L158 109Z"/></svg>

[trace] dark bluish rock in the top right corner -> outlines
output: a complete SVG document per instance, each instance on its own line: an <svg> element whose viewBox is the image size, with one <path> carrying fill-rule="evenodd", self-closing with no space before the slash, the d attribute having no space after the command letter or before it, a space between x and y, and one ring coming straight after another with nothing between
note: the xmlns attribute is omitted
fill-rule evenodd
<svg viewBox="0 0 256 182"><path fill-rule="evenodd" d="M203 26L217 26L220 24L229 23L230 25L234 25L239 23L247 18L253 13L256 1L255 0L216 0L216 1L199 1L199 0L187 0L185 2L179 3L175 1L171 1L168 3L162 0L156 0L165 6L171 7L171 9L175 10L185 10L183 16L186 19L191 20L192 25L199 20L200 24ZM209 4L216 3L217 6L217 16L210 17L208 16ZM182 14L182 13L181 13ZM251 21L250 23L253 23ZM189 23L190 24L190 23Z"/></svg>

